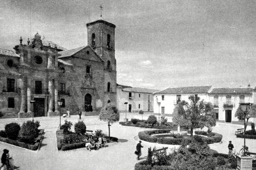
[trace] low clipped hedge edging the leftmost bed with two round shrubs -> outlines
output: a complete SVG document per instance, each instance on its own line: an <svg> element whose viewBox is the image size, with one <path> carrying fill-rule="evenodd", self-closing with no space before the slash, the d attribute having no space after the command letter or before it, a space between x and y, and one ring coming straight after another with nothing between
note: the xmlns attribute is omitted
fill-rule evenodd
<svg viewBox="0 0 256 170"><path fill-rule="evenodd" d="M38 135L38 137L35 138L34 144L26 144L24 142L20 142L18 140L12 140L7 137L0 137L0 141L35 151L38 149L40 140L42 139L43 134L44 134L44 129L39 129L39 130L40 130L39 135Z"/></svg>

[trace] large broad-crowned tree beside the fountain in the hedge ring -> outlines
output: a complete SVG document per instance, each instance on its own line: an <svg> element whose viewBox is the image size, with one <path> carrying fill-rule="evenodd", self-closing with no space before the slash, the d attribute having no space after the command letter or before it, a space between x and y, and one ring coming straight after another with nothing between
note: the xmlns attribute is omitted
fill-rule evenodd
<svg viewBox="0 0 256 170"><path fill-rule="evenodd" d="M189 102L182 100L173 111L172 122L175 125L188 126L193 136L193 129L204 126L210 128L216 125L215 113L211 102L200 101L199 97L191 95Z"/></svg>

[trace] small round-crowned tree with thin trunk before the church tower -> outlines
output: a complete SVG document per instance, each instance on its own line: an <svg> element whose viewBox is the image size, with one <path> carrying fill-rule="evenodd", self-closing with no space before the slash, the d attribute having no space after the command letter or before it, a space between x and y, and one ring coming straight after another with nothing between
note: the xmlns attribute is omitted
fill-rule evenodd
<svg viewBox="0 0 256 170"><path fill-rule="evenodd" d="M108 122L108 136L110 137L110 123L118 122L120 115L115 105L108 103L100 110L100 120Z"/></svg>

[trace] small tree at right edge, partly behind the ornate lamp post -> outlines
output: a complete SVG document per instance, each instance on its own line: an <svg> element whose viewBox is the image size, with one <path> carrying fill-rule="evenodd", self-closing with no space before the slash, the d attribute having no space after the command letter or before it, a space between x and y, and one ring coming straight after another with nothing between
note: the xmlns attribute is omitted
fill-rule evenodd
<svg viewBox="0 0 256 170"><path fill-rule="evenodd" d="M251 109L248 112L243 112L241 107L238 107L235 113L235 117L239 119L244 119L244 132L246 131L246 127L248 125L248 120L251 117L256 117L256 105L252 105Z"/></svg>

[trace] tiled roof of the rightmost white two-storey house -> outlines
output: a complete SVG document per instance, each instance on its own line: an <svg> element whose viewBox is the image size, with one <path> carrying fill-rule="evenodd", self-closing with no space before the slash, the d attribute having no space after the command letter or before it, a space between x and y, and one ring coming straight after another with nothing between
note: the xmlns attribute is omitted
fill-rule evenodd
<svg viewBox="0 0 256 170"><path fill-rule="evenodd" d="M213 88L213 94L252 94L252 87L218 87Z"/></svg>

